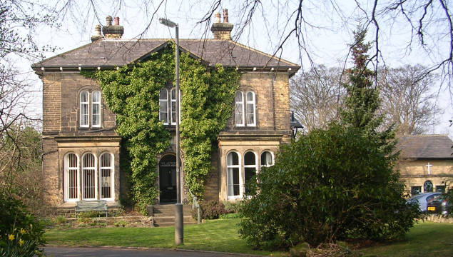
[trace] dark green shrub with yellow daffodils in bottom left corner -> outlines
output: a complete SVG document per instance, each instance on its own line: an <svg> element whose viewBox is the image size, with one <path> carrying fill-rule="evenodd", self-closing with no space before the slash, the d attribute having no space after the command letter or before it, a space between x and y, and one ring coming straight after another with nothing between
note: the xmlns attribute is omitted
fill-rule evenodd
<svg viewBox="0 0 453 257"><path fill-rule="evenodd" d="M44 228L36 217L0 191L0 256L42 256L44 243Z"/></svg>

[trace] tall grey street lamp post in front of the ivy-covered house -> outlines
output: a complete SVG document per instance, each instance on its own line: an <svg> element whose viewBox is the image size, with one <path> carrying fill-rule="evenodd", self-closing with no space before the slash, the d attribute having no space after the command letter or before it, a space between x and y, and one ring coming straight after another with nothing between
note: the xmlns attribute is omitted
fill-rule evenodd
<svg viewBox="0 0 453 257"><path fill-rule="evenodd" d="M161 24L175 28L175 81L176 81L176 204L175 204L175 245L184 243L183 204L181 203L181 174L179 163L179 36L178 24L168 19L160 18Z"/></svg>

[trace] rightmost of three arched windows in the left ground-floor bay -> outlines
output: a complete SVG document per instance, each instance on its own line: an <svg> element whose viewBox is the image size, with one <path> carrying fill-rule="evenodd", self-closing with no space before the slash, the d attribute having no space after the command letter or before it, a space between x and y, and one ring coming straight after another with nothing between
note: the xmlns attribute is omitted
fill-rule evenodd
<svg viewBox="0 0 453 257"><path fill-rule="evenodd" d="M99 173L101 199L113 199L113 156L110 153L101 154Z"/></svg>

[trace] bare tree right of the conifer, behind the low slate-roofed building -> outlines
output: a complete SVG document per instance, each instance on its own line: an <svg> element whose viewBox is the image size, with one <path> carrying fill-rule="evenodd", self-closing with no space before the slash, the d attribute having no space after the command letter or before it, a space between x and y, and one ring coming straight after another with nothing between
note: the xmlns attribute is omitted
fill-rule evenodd
<svg viewBox="0 0 453 257"><path fill-rule="evenodd" d="M426 133L429 125L437 123L434 114L441 113L433 92L439 78L437 74L426 74L426 70L417 65L379 73L381 111L385 122L395 124L401 135Z"/></svg>

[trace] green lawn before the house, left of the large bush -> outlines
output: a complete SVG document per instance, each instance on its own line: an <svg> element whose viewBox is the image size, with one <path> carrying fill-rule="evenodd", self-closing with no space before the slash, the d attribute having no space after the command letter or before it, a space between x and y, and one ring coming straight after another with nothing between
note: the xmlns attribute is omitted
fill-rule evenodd
<svg viewBox="0 0 453 257"><path fill-rule="evenodd" d="M236 218L205 221L184 226L181 249L270 255L270 251L254 251L239 238ZM49 245L64 246L139 246L175 248L175 228L53 228L46 232Z"/></svg>

